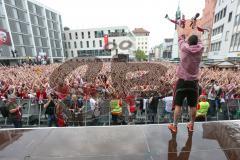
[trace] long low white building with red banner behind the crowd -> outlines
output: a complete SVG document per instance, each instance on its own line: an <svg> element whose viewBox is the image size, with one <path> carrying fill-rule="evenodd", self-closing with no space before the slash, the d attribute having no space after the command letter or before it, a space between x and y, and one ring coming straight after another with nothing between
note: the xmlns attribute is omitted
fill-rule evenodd
<svg viewBox="0 0 240 160"><path fill-rule="evenodd" d="M136 41L135 36L126 26L67 29L64 30L63 39L67 58L86 56L112 58L118 54L128 54L131 57Z"/></svg>

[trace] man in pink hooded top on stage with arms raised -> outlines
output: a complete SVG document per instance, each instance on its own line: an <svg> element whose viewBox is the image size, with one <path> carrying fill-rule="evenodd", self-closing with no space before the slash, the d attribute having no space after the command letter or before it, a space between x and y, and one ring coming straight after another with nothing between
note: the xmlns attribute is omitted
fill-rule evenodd
<svg viewBox="0 0 240 160"><path fill-rule="evenodd" d="M174 121L168 128L177 133L177 124L181 112L183 101L187 98L190 107L190 123L188 123L188 131L193 132L196 117L196 106L198 101L198 76L200 62L204 47L197 35L191 35L185 41L185 35L179 37L180 64L177 68L178 81L174 92Z"/></svg>

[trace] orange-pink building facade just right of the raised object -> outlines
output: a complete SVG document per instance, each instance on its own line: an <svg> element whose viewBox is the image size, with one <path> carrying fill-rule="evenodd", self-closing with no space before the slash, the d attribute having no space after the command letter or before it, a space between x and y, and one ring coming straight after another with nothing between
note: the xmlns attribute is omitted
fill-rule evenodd
<svg viewBox="0 0 240 160"><path fill-rule="evenodd" d="M211 35L212 35L212 27L215 16L215 7L217 0L205 0L205 7L203 9L203 15L200 20L199 26L203 28L207 28L209 32L204 32L201 37L202 43L204 45L203 57L207 58L208 52L210 51L211 46Z"/></svg>

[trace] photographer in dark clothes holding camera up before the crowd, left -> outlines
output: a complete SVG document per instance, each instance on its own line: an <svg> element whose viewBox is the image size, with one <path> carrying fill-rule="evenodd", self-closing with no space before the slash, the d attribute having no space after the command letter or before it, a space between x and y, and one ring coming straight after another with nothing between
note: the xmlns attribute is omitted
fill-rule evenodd
<svg viewBox="0 0 240 160"><path fill-rule="evenodd" d="M56 118L56 106L57 106L57 97L51 93L48 95L48 102L44 104L44 108L46 109L45 114L48 116L48 127L52 127L53 123L56 127L57 125L57 118Z"/></svg>

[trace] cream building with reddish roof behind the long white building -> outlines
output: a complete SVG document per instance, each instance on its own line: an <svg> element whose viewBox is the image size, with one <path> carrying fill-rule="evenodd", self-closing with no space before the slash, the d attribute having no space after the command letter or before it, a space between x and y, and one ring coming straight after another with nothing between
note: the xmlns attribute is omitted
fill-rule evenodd
<svg viewBox="0 0 240 160"><path fill-rule="evenodd" d="M149 35L150 32L144 28L135 28L133 34L136 37L136 49L142 50L146 55L149 55Z"/></svg>

